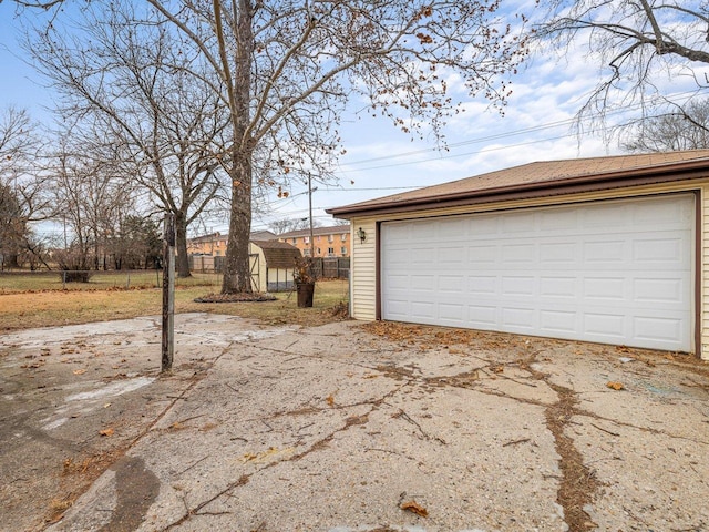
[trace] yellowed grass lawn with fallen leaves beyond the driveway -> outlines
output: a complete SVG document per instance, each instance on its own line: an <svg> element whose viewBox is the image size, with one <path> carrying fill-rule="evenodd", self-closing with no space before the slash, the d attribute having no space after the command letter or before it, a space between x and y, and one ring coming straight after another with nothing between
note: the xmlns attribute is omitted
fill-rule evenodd
<svg viewBox="0 0 709 532"><path fill-rule="evenodd" d="M147 274L150 275L150 274ZM59 283L54 289L47 288L39 276L12 275L0 277L0 331L52 327L60 325L86 324L136 316L153 316L162 313L162 289L155 288L155 273L151 282L138 283L125 289L125 274L120 274L120 284L105 276L103 283L72 283L72 289L62 290L61 279L53 274L52 282ZM101 276L103 277L103 276ZM91 285L78 287L74 285ZM24 287L21 291L20 287ZM188 279L177 279L175 289L175 311L206 311L229 314L243 318L257 319L268 325L299 324L322 325L341 319L347 314L349 284L347 279L321 280L315 289L312 308L298 308L295 293L276 294L275 301L261 303L195 303L194 299L209 293L218 293L220 279L209 274L197 274Z"/></svg>

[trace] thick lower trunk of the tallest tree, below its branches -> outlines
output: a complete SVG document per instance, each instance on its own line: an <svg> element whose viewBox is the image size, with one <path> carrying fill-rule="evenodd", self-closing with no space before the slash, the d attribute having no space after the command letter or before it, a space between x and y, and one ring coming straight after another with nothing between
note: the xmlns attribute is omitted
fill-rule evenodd
<svg viewBox="0 0 709 532"><path fill-rule="evenodd" d="M251 233L251 154L236 153L232 167L229 242L224 265L223 294L251 290L248 243Z"/></svg>

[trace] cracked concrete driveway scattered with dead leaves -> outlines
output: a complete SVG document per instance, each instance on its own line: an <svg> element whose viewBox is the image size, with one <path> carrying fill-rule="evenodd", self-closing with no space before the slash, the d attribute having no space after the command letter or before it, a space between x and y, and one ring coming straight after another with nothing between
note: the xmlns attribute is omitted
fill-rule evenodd
<svg viewBox="0 0 709 532"><path fill-rule="evenodd" d="M689 357L199 314L158 376L156 325L0 337L2 530L709 529Z"/></svg>

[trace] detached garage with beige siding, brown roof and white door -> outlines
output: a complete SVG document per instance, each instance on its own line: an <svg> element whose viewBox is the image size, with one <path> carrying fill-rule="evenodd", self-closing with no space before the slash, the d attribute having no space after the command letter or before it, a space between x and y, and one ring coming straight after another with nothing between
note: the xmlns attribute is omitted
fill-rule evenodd
<svg viewBox="0 0 709 532"><path fill-rule="evenodd" d="M542 161L328 209L350 315L709 359L709 150Z"/></svg>

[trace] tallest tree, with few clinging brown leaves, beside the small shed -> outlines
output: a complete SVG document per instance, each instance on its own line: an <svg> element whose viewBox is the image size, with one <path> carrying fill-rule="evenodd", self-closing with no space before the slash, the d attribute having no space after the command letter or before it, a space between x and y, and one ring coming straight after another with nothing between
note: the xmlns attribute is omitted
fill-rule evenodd
<svg viewBox="0 0 709 532"><path fill-rule="evenodd" d="M404 131L434 133L454 111L446 79L504 101L500 80L526 54L518 28L500 23L497 1L148 0L220 80L232 139L223 293L250 291L253 188L310 170L327 175L340 152L338 120L361 95ZM518 19L522 22L522 18ZM268 158L266 155L268 154ZM258 171L263 173L259 175Z"/></svg>

